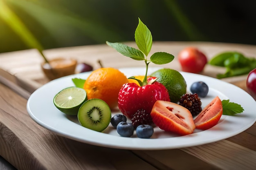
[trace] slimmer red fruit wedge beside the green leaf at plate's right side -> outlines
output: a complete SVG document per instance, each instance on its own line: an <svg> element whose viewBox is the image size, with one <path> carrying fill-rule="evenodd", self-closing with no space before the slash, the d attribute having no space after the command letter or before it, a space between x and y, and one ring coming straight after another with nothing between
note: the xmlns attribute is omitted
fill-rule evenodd
<svg viewBox="0 0 256 170"><path fill-rule="evenodd" d="M222 111L222 103L220 98L217 96L211 101L211 103L203 108L202 112L200 112L198 117L195 118L195 128L201 130L212 128L220 120Z"/></svg>

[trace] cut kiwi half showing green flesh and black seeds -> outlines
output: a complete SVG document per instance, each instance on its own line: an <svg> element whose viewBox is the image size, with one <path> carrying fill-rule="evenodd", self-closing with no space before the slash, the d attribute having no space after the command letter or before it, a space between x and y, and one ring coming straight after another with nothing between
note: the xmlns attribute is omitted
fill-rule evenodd
<svg viewBox="0 0 256 170"><path fill-rule="evenodd" d="M89 99L79 108L77 117L83 127L102 132L110 124L111 110L103 100Z"/></svg>

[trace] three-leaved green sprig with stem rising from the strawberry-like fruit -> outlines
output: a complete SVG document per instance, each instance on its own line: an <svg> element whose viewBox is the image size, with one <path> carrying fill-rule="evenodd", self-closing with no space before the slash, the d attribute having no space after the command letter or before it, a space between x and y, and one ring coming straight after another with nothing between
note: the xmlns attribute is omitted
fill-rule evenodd
<svg viewBox="0 0 256 170"><path fill-rule="evenodd" d="M174 56L165 52L157 52L151 55L150 59L148 59L148 54L150 53L153 44L153 38L148 27L140 19L139 24L135 30L135 42L139 50L118 42L112 43L106 41L106 44L114 48L117 52L121 53L122 55L130 57L133 60L144 60L146 64L146 73L142 81L142 85L146 85L148 64L150 62L153 62L154 64L167 64L173 61Z"/></svg>

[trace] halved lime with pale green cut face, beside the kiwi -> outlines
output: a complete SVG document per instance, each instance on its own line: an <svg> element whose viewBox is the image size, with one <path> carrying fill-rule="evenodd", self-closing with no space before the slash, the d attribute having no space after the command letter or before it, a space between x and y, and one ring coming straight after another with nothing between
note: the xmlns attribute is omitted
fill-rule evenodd
<svg viewBox="0 0 256 170"><path fill-rule="evenodd" d="M64 88L53 99L56 108L67 115L77 115L80 106L86 101L87 94L79 87Z"/></svg>

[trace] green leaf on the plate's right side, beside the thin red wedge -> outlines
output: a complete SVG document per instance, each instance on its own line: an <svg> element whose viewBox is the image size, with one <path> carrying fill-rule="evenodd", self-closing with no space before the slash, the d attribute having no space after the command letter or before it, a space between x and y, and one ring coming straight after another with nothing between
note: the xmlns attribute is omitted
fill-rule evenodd
<svg viewBox="0 0 256 170"><path fill-rule="evenodd" d="M236 113L242 113L244 111L240 104L229 102L228 100L222 100L222 115L235 115Z"/></svg>

